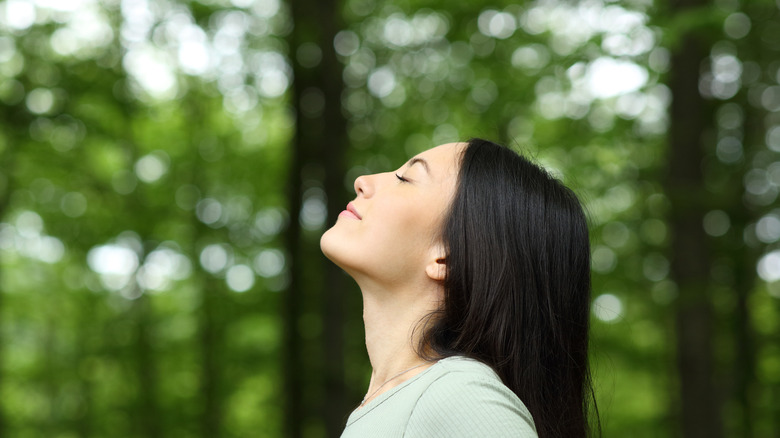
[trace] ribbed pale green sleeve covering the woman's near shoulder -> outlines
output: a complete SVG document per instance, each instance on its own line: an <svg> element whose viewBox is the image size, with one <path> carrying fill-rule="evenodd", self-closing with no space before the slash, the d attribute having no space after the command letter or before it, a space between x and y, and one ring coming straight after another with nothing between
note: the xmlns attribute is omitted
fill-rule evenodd
<svg viewBox="0 0 780 438"><path fill-rule="evenodd" d="M445 374L420 396L407 438L536 438L528 409L500 381Z"/></svg>

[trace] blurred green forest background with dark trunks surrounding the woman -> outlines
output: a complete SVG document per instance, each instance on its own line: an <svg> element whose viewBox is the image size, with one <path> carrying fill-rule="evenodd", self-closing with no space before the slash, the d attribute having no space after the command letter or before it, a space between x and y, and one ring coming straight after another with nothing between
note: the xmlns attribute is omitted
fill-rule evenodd
<svg viewBox="0 0 780 438"><path fill-rule="evenodd" d="M472 136L587 205L604 436L780 436L779 8L0 2L0 436L338 436L319 236Z"/></svg>

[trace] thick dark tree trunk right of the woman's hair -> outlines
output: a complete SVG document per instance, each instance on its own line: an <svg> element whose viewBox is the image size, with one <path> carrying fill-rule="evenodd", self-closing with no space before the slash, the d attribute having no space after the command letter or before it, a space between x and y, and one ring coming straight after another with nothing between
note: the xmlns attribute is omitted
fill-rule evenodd
<svg viewBox="0 0 780 438"><path fill-rule="evenodd" d="M671 13L702 6L702 0L679 0L671 5ZM679 288L677 366L687 438L723 435L719 393L713 381L712 263L702 228L708 210L702 173L703 134L712 120L712 108L699 93L699 69L708 52L708 44L695 31L685 32L673 51L669 73L672 105L666 190L671 202L671 274Z"/></svg>

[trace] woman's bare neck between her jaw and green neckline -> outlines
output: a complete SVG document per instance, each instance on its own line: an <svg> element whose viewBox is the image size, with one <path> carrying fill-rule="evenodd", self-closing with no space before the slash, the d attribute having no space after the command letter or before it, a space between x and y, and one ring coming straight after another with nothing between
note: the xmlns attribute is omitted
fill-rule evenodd
<svg viewBox="0 0 780 438"><path fill-rule="evenodd" d="M433 364L417 354L417 345L423 328L421 320L436 310L439 303L438 291L430 288L410 292L361 285L361 291L366 349L372 368L368 402Z"/></svg>

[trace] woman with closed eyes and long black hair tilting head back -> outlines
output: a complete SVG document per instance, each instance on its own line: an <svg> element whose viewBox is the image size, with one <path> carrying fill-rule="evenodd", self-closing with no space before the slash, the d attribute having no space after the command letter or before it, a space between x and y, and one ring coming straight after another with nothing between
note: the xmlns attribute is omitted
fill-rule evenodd
<svg viewBox="0 0 780 438"><path fill-rule="evenodd" d="M590 250L575 195L479 139L361 176L320 242L373 368L342 437L589 435Z"/></svg>

